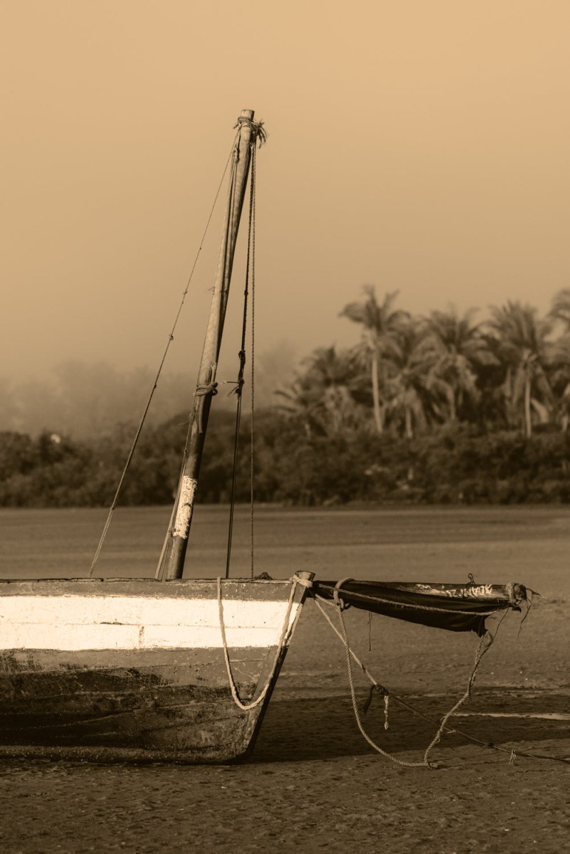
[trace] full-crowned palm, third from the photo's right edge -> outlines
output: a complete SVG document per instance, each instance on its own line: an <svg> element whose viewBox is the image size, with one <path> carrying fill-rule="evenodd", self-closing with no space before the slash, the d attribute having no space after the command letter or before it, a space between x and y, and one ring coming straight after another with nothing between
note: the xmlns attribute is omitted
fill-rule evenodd
<svg viewBox="0 0 570 854"><path fill-rule="evenodd" d="M428 333L433 340L434 371L451 387L450 420L457 421L467 401L480 398L476 367L488 364L493 357L480 324L472 319L477 309L469 309L462 317L455 307L447 312L433 311L426 320Z"/></svg>

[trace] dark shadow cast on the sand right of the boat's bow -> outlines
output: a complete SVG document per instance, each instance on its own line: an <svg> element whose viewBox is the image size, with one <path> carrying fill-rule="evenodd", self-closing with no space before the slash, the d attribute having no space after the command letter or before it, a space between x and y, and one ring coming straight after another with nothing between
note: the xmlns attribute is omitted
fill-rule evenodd
<svg viewBox="0 0 570 854"><path fill-rule="evenodd" d="M421 760L438 729L439 720L449 711L454 699L444 696L405 699L431 720L418 717L392 702L386 730L383 703L375 699L362 718L364 729L383 750L395 756L414 752L417 754L414 761ZM556 754L570 755L568 698L562 694L489 689L478 693L472 703L463 705L460 715L451 718L449 726L486 744L509 750L518 745L520 750L532 752L533 743L556 741ZM469 743L461 734L445 734L435 752ZM249 762L323 760L367 753L374 755L358 731L350 696L275 699L266 713Z"/></svg>

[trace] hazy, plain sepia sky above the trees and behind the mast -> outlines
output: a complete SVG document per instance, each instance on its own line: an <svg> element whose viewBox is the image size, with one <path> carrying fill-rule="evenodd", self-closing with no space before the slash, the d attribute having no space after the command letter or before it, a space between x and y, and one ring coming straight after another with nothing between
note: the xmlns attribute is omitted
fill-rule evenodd
<svg viewBox="0 0 570 854"><path fill-rule="evenodd" d="M356 341L364 283L416 313L570 285L567 0L1 0L0 32L0 374L154 365L242 108L259 350Z"/></svg>

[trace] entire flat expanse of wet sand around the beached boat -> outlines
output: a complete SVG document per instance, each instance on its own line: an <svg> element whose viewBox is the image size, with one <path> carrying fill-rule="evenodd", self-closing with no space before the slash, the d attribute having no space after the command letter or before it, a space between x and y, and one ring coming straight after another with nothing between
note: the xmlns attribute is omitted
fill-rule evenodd
<svg viewBox="0 0 570 854"><path fill-rule="evenodd" d="M160 551L166 515L123 512L102 569L152 572L148 552ZM102 518L0 512L2 576L83 575ZM224 519L223 508L197 512L189 574L218 574ZM247 573L249 551L247 513L240 521L236 575ZM256 571L275 577L310 569L331 579L465 582L472 572L477 582L538 590L522 627L517 615L501 625L471 703L453 719L504 752L457 734L434 749L436 769L404 768L373 752L354 721L343 647L308 602L247 763L3 762L2 851L569 850L570 765L516 754L570 758L568 554L565 508L261 509ZM395 757L421 761L436 722L467 685L477 639L386 617L369 624L356 611L346 625L375 678L434 721L393 702L385 731L375 699L365 727ZM362 705L368 683L355 678Z"/></svg>

